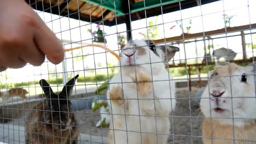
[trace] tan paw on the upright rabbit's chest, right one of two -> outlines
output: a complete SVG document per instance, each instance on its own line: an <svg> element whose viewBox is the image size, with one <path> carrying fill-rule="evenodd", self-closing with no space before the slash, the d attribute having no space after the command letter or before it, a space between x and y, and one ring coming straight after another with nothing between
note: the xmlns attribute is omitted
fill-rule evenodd
<svg viewBox="0 0 256 144"><path fill-rule="evenodd" d="M137 78L137 81L136 81L136 78ZM139 95L147 95L150 91L152 91L152 80L151 80L151 77L144 73L143 71L142 72L139 72L137 74L137 77L134 75L131 75L131 80L133 82L137 82L137 83L132 83L132 87L133 88L137 88L137 85L138 85L138 94Z"/></svg>

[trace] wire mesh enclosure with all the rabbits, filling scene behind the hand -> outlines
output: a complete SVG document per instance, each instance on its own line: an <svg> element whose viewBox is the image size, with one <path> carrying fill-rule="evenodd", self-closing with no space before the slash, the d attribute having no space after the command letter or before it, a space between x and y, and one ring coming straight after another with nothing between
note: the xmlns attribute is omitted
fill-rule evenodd
<svg viewBox="0 0 256 144"><path fill-rule="evenodd" d="M77 49L0 73L0 143L256 143L255 1L25 2Z"/></svg>

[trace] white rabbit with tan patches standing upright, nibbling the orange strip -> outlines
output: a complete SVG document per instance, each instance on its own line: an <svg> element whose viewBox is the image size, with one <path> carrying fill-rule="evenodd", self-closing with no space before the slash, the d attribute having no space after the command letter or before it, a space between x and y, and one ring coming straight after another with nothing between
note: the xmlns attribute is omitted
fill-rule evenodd
<svg viewBox="0 0 256 144"><path fill-rule="evenodd" d="M121 50L121 68L107 92L110 144L167 142L176 93L165 65L177 51L151 40L131 40Z"/></svg>

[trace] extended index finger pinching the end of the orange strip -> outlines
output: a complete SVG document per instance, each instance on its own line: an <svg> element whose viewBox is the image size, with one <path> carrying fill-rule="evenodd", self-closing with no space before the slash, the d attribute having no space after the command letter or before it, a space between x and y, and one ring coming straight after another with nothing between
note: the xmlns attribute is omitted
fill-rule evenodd
<svg viewBox="0 0 256 144"><path fill-rule="evenodd" d="M64 58L61 41L51 32L39 16L37 16L37 19L39 27L34 34L35 43L50 62L59 64Z"/></svg>

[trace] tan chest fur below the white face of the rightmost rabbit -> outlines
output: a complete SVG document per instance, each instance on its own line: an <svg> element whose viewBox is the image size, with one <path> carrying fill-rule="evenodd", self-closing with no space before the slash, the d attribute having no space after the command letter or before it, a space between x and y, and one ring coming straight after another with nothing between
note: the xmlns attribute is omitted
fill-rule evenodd
<svg viewBox="0 0 256 144"><path fill-rule="evenodd" d="M249 144L256 141L255 131L256 122L248 121L246 127L239 128L234 127L235 130L235 143L238 144ZM205 118L202 123L202 137L213 137L213 144L231 144L234 143L233 140L233 127L232 125L221 125L217 120ZM216 139L214 139L216 138ZM229 140L225 140L229 139ZM211 138L203 138L203 143L212 143ZM239 141L243 140L243 141ZM247 141L246 141L247 140Z"/></svg>

